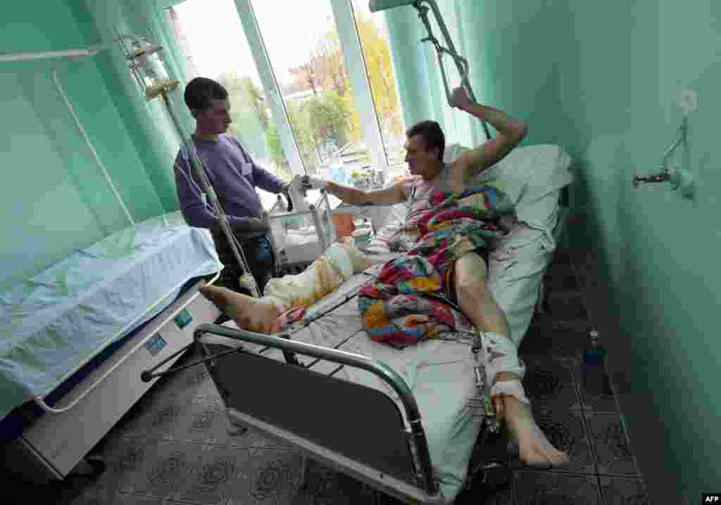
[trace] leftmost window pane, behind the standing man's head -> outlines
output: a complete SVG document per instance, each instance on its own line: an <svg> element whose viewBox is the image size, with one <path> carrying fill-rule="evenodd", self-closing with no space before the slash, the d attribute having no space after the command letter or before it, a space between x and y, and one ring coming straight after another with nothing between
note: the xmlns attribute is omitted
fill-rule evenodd
<svg viewBox="0 0 721 505"><path fill-rule="evenodd" d="M262 168L290 180L275 126L280 118L273 117L267 103L234 1L186 0L168 9L168 19L185 54L188 80L208 77L228 90L233 118L228 133ZM275 195L258 193L266 208L275 203Z"/></svg>

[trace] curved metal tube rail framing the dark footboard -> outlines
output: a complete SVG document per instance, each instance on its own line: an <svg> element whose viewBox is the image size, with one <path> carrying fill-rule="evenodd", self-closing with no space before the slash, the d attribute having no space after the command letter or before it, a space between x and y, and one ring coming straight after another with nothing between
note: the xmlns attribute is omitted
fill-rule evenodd
<svg viewBox="0 0 721 505"><path fill-rule="evenodd" d="M257 344L265 347L273 347L283 352L291 352L293 354L304 354L310 357L326 359L330 362L348 365L350 367L360 368L376 375L384 383L391 386L397 393L403 408L406 411L408 422L411 426L412 433L417 442L419 452L421 470L425 478L427 491L434 494L438 491L438 483L433 478L433 466L430 461L430 453L428 452L428 440L425 437L425 430L421 423L420 410L418 404L413 397L408 385L403 377L384 362L376 361L361 354L353 354L351 352L339 351L337 349L329 349L327 347L317 346L314 344L306 344L304 342L293 341L288 335L271 336L257 334L252 331L231 329L226 326L218 326L217 324L203 323L193 331L193 339L200 339L203 334L213 334L226 336L231 339L246 341L251 344Z"/></svg>

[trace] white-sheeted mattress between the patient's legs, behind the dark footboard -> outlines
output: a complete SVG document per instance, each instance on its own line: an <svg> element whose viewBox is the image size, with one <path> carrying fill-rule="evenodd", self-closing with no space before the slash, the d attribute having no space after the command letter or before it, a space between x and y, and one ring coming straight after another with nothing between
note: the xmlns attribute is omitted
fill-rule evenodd
<svg viewBox="0 0 721 505"><path fill-rule="evenodd" d="M374 267L368 272L379 269L380 266ZM339 290L328 295L311 309L319 312L327 310L348 293L358 292L363 282L370 278L367 274L353 276ZM232 321L225 323L225 326L236 327ZM312 323L307 329L293 334L292 338L324 347L336 347L337 344L348 339L337 349L363 354L384 362L404 378L420 409L430 458L433 468L441 479L441 493L446 502L450 503L461 491L474 442L482 423L479 412L476 408L471 408L468 401L468 398L473 398L477 394L473 354L469 344L429 340L399 350L373 341L362 329L357 298L341 305L332 313ZM204 337L204 341L217 341L229 346L239 342L219 336L210 339L209 335ZM243 345L248 347L248 344L243 343ZM263 352L263 356L284 360L282 352L276 349L268 349ZM298 359L306 365L314 361L314 358L301 355L298 355ZM335 363L322 361L314 365L311 370L328 373L337 367ZM345 378L386 393L396 401L407 423L397 395L376 375L365 370L343 367L334 377Z"/></svg>

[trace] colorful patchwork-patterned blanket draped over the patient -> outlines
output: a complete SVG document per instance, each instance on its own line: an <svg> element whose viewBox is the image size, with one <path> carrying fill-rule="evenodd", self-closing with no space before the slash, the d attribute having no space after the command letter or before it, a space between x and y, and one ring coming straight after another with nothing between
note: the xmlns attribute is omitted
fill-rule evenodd
<svg viewBox="0 0 721 505"><path fill-rule="evenodd" d="M510 198L487 184L463 193L431 193L430 207L405 226L415 237L412 247L386 263L358 294L368 336L405 347L454 330L472 331L453 303L454 264L471 251L487 251L515 218Z"/></svg>

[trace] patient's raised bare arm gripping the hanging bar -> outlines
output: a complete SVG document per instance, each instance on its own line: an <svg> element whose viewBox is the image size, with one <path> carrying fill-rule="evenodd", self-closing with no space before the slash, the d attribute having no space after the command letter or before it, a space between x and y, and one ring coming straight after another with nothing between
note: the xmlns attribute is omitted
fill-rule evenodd
<svg viewBox="0 0 721 505"><path fill-rule="evenodd" d="M479 120L489 122L497 131L494 138L472 151L466 151L455 161L464 175L468 171L479 172L496 164L518 146L528 133L526 122L509 117L505 112L493 107L472 102L463 88L454 89L451 102L454 107L468 112Z"/></svg>

